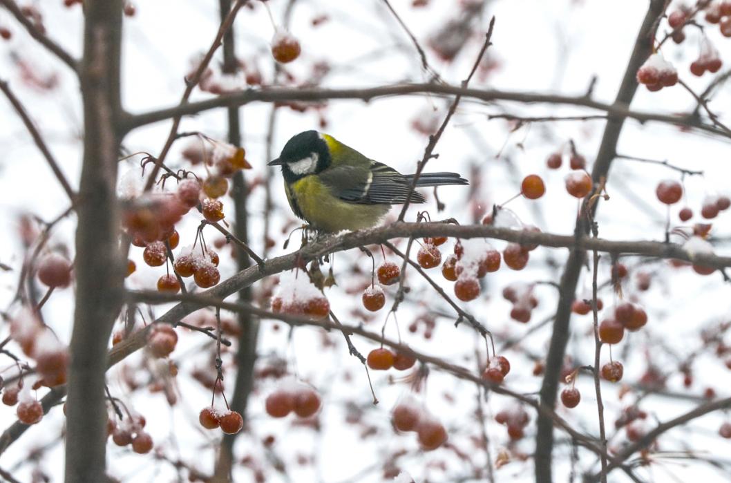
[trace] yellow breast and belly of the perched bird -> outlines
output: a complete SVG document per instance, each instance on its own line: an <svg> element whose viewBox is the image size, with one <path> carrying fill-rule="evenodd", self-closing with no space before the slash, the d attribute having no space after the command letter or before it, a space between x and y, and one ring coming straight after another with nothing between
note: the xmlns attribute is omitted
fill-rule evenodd
<svg viewBox="0 0 731 483"><path fill-rule="evenodd" d="M285 183L285 188L292 211L314 228L330 233L374 227L390 209L389 205L359 205L334 197L316 175L291 186Z"/></svg>

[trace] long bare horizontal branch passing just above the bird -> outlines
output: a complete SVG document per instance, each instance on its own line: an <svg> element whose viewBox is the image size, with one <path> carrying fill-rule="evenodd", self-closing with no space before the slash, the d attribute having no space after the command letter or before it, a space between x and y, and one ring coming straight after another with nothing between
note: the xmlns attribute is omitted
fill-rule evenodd
<svg viewBox="0 0 731 483"><path fill-rule="evenodd" d="M442 94L445 96L463 96L481 101L511 101L524 104L563 104L604 111L614 118L632 118L644 123L656 121L677 126L694 127L705 132L728 137L721 129L702 123L692 113L687 115L668 115L630 110L624 104L607 104L594 101L587 96L565 96L561 94L534 94L529 92L509 92L495 89L462 88L449 84L395 84L373 88L325 89L325 88L264 88L246 89L231 94L207 99L200 102L175 105L148 113L129 114L124 119L124 130L129 131L146 124L175 118L179 115L194 115L217 107L237 107L250 102L317 102L329 99L360 99L370 101L378 97L406 96L410 94Z"/></svg>

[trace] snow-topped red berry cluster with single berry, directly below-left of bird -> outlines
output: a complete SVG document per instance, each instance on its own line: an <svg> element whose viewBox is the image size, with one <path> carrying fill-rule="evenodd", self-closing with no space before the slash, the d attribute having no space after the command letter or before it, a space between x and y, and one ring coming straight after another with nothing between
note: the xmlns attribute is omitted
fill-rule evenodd
<svg viewBox="0 0 731 483"><path fill-rule="evenodd" d="M173 262L173 270L182 278L192 276L197 286L209 289L221 281L219 262L219 254L210 248L183 248ZM168 274L160 278L157 288L161 292L178 292L180 284L178 278Z"/></svg>

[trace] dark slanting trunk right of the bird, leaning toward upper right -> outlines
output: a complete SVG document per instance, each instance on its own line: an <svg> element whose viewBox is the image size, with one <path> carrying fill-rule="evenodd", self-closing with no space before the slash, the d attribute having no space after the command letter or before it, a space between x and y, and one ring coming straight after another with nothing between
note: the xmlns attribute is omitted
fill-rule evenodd
<svg viewBox="0 0 731 483"><path fill-rule="evenodd" d="M657 29L657 20L667 4L666 0L651 0L648 11L645 14L640 31L637 34L635 47L632 56L629 58L624 77L617 93L614 105L629 107L632 98L637 91L637 69L650 55ZM624 118L610 115L602 136L599 151L596 154L594 168L591 178L594 181L594 191L599 189L605 182L613 159L616 157L617 142L624 126ZM599 205L599 198L592 198L596 194L592 192L586 199L594 199L593 205L584 205L583 210L590 210L591 214L585 213L579 216L575 236L583 237L588 233L588 220L594 219L596 207ZM569 252L569 258L561 276L561 287L559 289L558 307L556 308L556 321L553 324L553 335L551 336L548 357L546 357L545 376L540 390L541 404L553 409L556 407L556 392L558 391L558 378L561 374L561 366L564 363L564 354L569 340L569 319L571 317L571 303L576 293L576 284L581 273L581 267L586 259L583 249L574 248ZM553 452L553 422L544 415L538 417L538 430L536 436L536 466L535 476L537 482L551 482L551 453Z"/></svg>

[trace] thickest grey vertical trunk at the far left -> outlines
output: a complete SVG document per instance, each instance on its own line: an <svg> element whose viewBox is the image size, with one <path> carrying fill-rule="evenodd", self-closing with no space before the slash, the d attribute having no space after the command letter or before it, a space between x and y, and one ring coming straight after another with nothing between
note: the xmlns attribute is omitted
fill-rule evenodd
<svg viewBox="0 0 731 483"><path fill-rule="evenodd" d="M121 0L88 0L80 84L84 155L76 231L76 310L67 398L66 482L105 481L107 342L121 306L116 199Z"/></svg>

